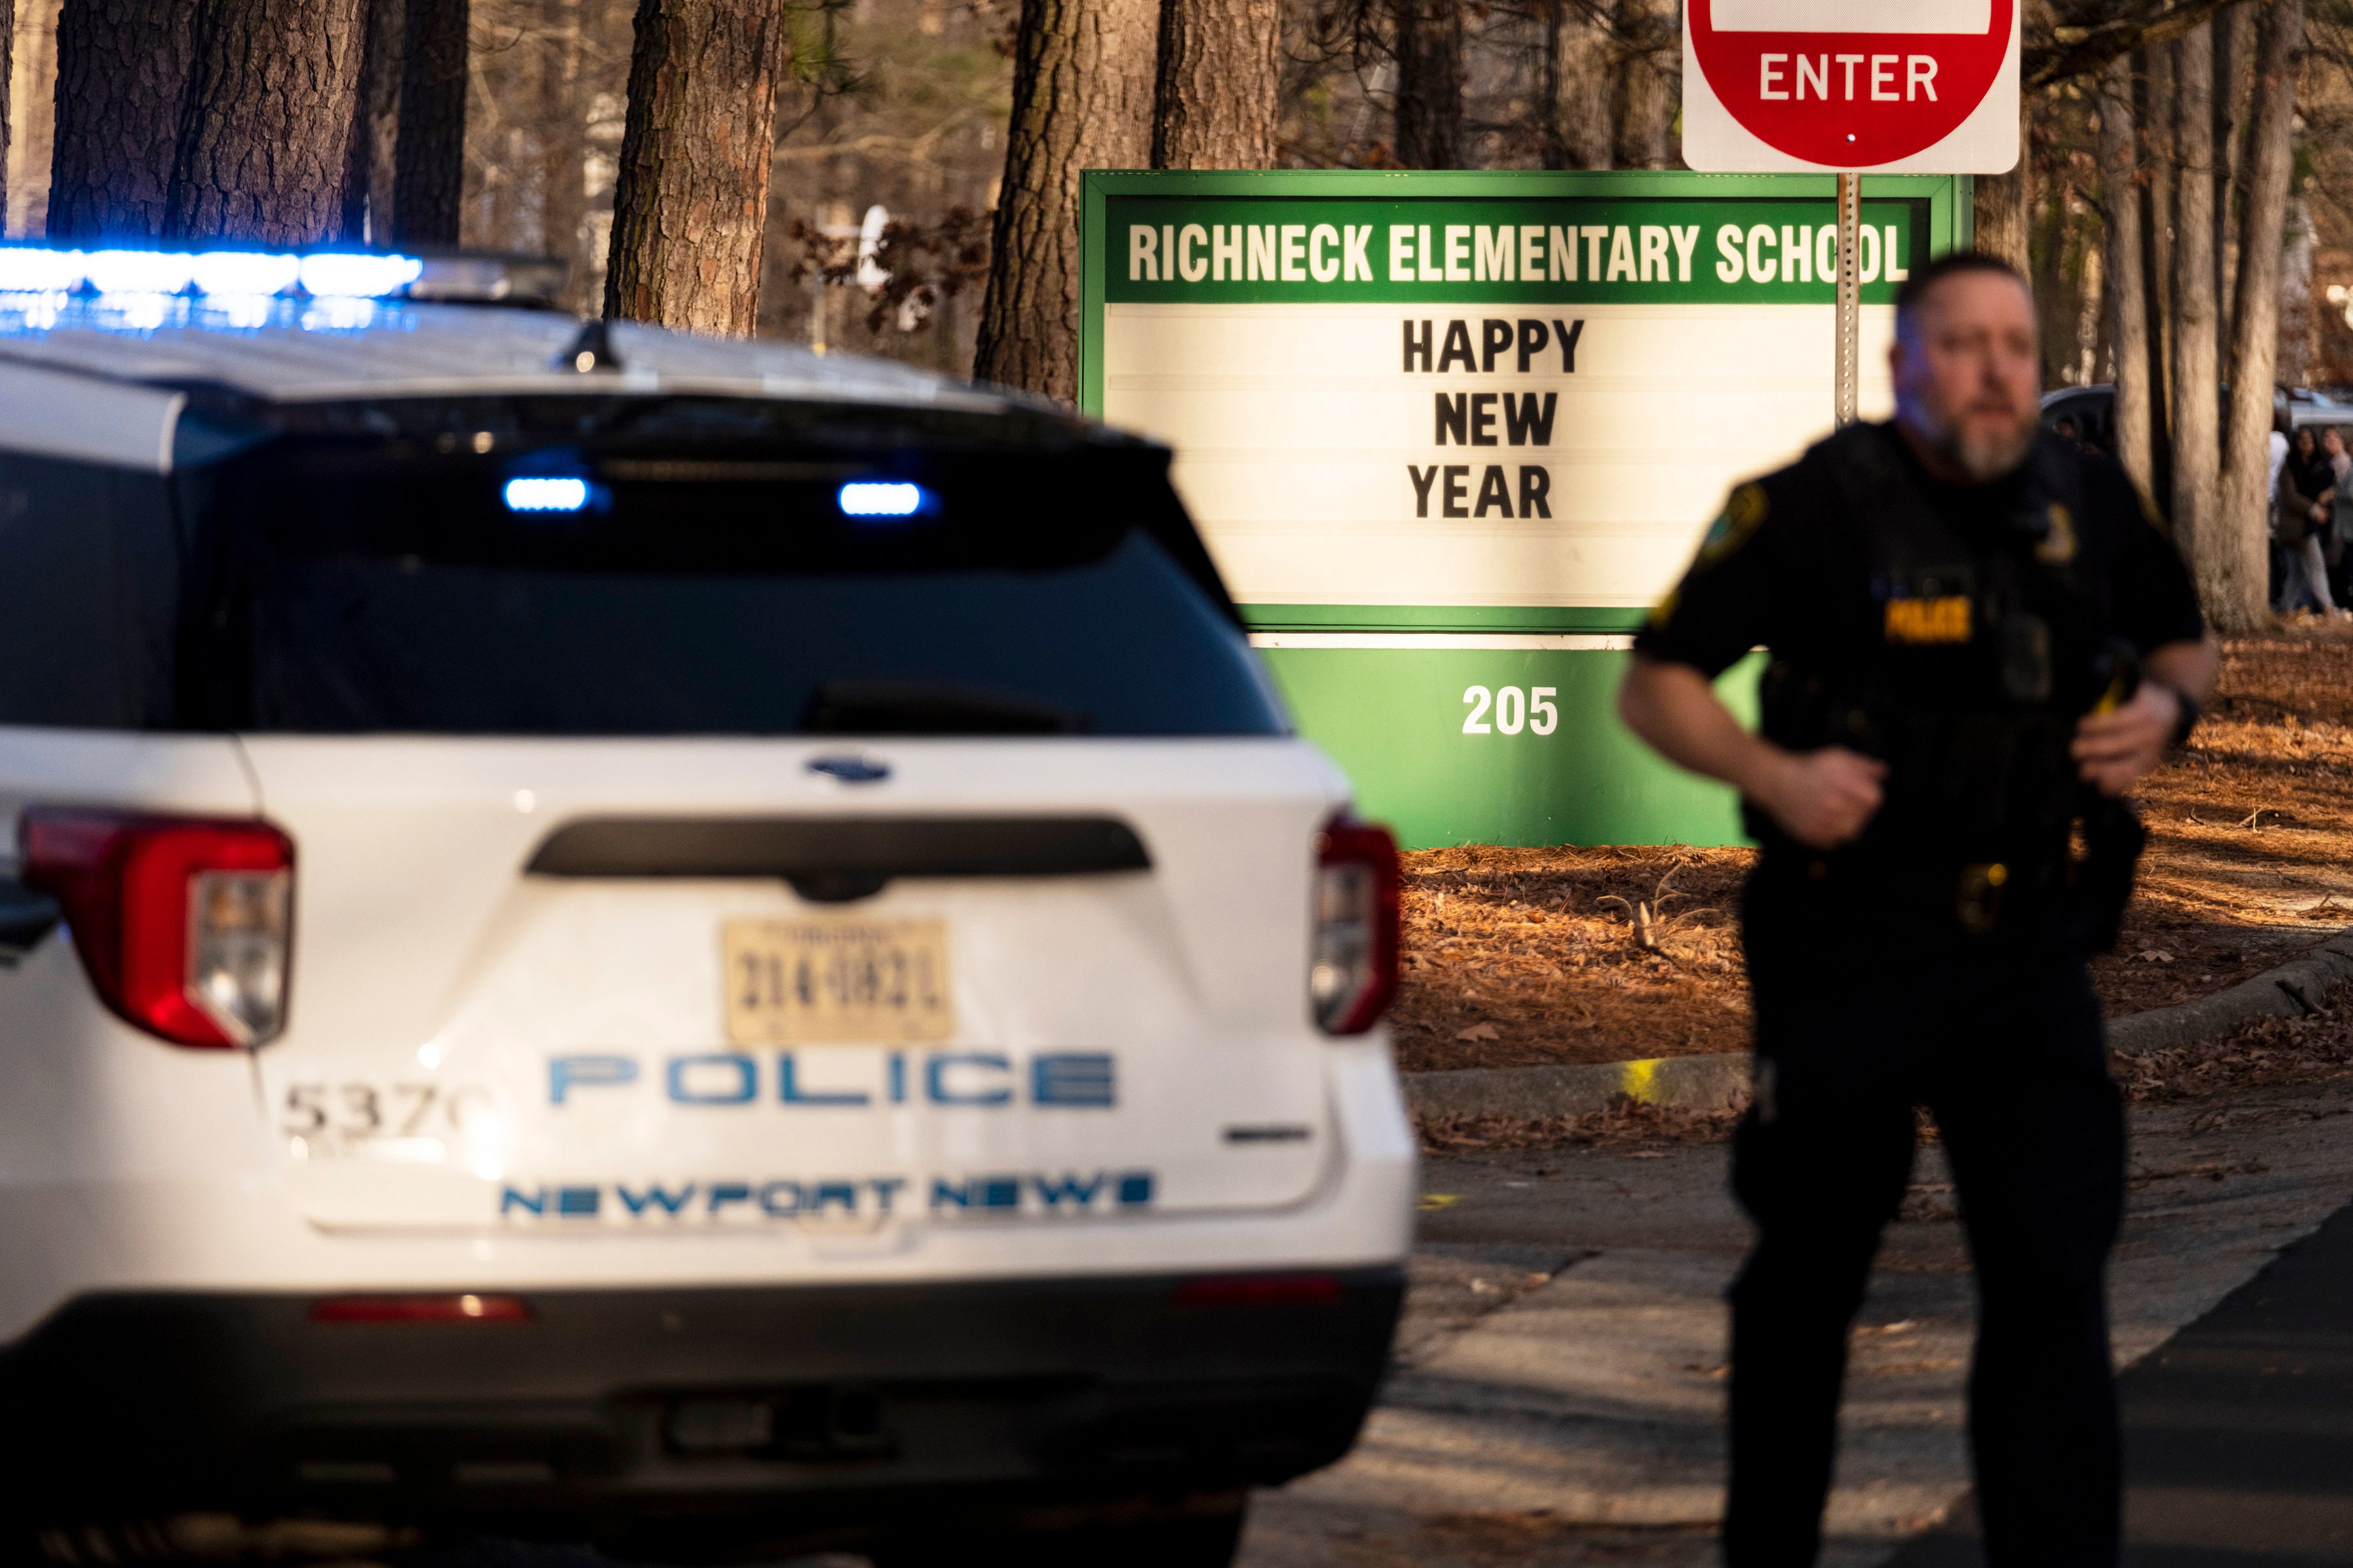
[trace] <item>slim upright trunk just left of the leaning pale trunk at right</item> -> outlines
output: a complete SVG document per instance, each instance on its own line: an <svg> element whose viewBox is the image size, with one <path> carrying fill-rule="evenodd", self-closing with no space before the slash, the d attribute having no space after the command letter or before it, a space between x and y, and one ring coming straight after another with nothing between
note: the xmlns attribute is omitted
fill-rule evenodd
<svg viewBox="0 0 2353 1568"><path fill-rule="evenodd" d="M2214 336L2214 33L2174 42L2174 538L2198 597L2219 607L2238 592L2235 545L2219 529L2221 362ZM2268 386L2268 383L2266 383Z"/></svg>

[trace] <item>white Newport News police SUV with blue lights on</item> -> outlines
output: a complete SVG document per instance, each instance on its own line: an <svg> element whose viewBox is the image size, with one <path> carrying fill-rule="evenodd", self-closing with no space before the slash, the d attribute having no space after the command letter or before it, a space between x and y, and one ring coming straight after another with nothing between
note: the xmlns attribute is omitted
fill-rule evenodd
<svg viewBox="0 0 2353 1568"><path fill-rule="evenodd" d="M1165 451L485 277L0 252L0 1521L1224 1563L1388 837Z"/></svg>

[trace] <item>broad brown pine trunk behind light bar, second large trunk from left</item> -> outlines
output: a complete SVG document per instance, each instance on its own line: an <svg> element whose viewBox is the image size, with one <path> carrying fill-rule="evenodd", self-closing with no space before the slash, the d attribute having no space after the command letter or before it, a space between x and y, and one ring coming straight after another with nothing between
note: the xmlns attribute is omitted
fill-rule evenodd
<svg viewBox="0 0 2353 1568"><path fill-rule="evenodd" d="M318 244L344 226L360 0L200 0L162 237Z"/></svg>

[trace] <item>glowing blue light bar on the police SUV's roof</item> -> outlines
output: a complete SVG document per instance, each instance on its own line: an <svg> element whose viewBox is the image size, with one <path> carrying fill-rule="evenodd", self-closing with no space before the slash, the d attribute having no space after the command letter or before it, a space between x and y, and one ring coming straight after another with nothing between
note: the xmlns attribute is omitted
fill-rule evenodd
<svg viewBox="0 0 2353 1568"><path fill-rule="evenodd" d="M546 256L0 244L0 294L407 296L548 303L562 284L565 263Z"/></svg>

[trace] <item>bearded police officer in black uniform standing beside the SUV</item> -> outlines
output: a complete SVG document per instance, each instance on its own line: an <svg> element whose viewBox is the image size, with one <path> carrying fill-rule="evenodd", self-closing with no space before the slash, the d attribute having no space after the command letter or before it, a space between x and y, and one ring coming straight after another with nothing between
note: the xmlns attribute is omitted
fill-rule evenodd
<svg viewBox="0 0 2353 1568"><path fill-rule="evenodd" d="M1812 1563L1847 1328L1937 1119L1979 1284L1988 1559L2115 1561L2106 1255L2122 1103L2085 952L2139 856L2115 797L2181 741L2214 642L2111 461L2038 435L2026 280L1981 254L1897 296L1897 418L1732 491L1635 637L1626 724L1739 788L1755 1220L1732 1286L1732 1568ZM1762 726L1711 677L1765 646Z"/></svg>

